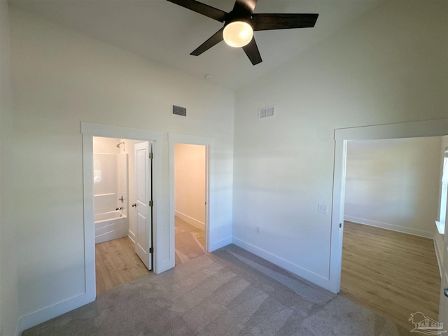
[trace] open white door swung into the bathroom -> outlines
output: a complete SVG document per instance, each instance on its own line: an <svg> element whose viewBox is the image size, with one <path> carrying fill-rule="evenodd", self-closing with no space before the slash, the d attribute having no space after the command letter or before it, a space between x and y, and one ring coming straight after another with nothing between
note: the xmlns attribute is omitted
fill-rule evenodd
<svg viewBox="0 0 448 336"><path fill-rule="evenodd" d="M134 145L135 158L135 253L148 269L153 269L151 163L152 152L148 141ZM150 252L151 251L151 252Z"/></svg>

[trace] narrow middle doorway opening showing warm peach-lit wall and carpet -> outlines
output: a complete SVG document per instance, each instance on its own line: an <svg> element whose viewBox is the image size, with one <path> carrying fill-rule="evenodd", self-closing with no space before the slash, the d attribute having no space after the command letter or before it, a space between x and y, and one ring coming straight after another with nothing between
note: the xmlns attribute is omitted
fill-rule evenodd
<svg viewBox="0 0 448 336"><path fill-rule="evenodd" d="M207 146L174 144L176 265L206 252Z"/></svg>

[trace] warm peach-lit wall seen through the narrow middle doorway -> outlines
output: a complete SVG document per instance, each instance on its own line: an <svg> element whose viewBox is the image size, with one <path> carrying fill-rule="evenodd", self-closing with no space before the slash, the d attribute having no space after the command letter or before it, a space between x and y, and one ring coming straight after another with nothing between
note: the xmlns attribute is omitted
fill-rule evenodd
<svg viewBox="0 0 448 336"><path fill-rule="evenodd" d="M174 145L176 216L205 229L205 146Z"/></svg>

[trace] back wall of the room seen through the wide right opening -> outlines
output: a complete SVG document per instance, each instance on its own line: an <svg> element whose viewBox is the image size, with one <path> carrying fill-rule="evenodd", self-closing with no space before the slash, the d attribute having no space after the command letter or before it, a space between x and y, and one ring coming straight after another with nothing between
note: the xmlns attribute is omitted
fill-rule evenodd
<svg viewBox="0 0 448 336"><path fill-rule="evenodd" d="M441 137L349 141L344 218L433 239Z"/></svg>

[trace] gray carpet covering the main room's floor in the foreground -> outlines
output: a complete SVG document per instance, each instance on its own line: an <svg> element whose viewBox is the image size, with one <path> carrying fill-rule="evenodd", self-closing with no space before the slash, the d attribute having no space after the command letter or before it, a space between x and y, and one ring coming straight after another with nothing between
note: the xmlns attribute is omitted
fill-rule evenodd
<svg viewBox="0 0 448 336"><path fill-rule="evenodd" d="M388 318L229 245L109 290L22 335L411 334Z"/></svg>

